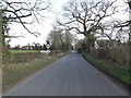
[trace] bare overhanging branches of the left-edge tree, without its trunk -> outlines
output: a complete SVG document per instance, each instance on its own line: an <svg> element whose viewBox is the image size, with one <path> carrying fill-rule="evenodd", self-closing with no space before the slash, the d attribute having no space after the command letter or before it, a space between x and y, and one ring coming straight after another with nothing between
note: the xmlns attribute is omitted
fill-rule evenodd
<svg viewBox="0 0 131 98"><path fill-rule="evenodd" d="M2 17L8 20L8 23L20 23L29 33L38 36L39 33L32 32L27 28L27 24L33 24L34 21L39 23L39 19L44 17L40 13L49 8L50 3L46 0L2 0L0 1L0 9L2 10ZM34 21L27 22L26 17L32 16ZM5 21L5 20L3 20Z"/></svg>

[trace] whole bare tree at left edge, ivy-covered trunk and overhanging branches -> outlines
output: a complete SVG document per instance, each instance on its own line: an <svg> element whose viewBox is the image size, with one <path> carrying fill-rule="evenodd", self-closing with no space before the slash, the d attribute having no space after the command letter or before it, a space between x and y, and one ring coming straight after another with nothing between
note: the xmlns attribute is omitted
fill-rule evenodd
<svg viewBox="0 0 131 98"><path fill-rule="evenodd" d="M38 36L39 33L28 29L27 25L33 24L34 22L39 23L40 13L47 10L50 7L50 3L46 0L1 0L0 1L0 23L2 23L2 56L3 62L7 62L9 57L8 45L5 38L12 38L17 36L9 35L9 25L10 23L20 23L29 34ZM28 21L27 17L33 17L33 21Z"/></svg>

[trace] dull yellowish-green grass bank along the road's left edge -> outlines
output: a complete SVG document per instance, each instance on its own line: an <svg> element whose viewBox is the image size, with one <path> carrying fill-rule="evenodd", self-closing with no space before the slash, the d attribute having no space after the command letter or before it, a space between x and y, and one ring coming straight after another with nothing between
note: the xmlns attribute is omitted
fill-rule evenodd
<svg viewBox="0 0 131 98"><path fill-rule="evenodd" d="M51 64L64 54L66 53L60 53L57 56L45 56L43 59L35 59L31 62L8 63L2 68L3 93L21 82L27 75L31 75L32 73L35 73L36 71Z"/></svg>

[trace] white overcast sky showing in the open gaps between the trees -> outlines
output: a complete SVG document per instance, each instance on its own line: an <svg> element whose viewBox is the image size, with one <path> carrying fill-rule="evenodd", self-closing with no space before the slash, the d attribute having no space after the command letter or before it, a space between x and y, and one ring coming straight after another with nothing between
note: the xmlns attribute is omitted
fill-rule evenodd
<svg viewBox="0 0 131 98"><path fill-rule="evenodd" d="M46 15L46 17L44 19L45 20L44 22L40 22L40 24L35 24L34 26L28 26L29 29L37 30L38 33L40 33L40 36L35 37L28 34L20 24L11 24L10 34L15 36L23 36L19 38L13 38L10 41L11 47L14 47L16 45L26 46L27 44L33 44L33 42L38 42L41 45L46 44L47 35L52 29L52 23L55 22L56 16L60 15L62 5L69 0L50 0L50 1L51 1L52 12L45 11L45 13L43 13ZM119 1L119 4L120 3L122 4L122 0L118 0L118 1ZM124 15L123 17L126 16L127 15Z"/></svg>

